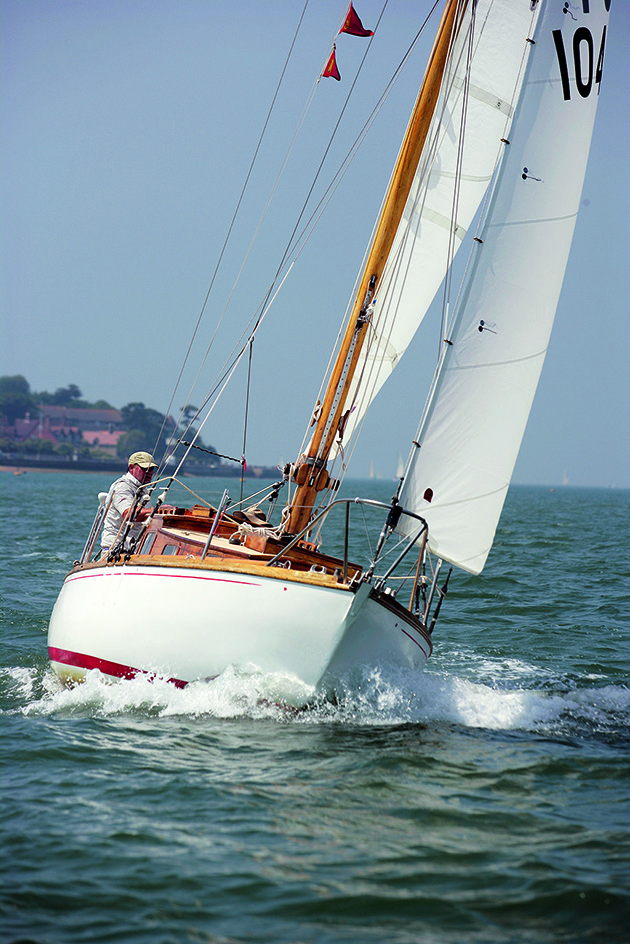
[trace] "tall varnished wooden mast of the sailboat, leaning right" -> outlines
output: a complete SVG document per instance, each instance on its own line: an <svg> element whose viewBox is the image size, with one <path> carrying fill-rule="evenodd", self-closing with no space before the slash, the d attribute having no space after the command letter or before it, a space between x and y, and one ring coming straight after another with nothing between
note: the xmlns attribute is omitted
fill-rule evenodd
<svg viewBox="0 0 630 944"><path fill-rule="evenodd" d="M317 493L330 483L326 463L344 415L350 385L367 335L366 328L371 317L370 302L378 288L402 218L438 101L453 36L465 7L466 0L448 0L442 15L424 81L398 154L357 296L315 423L313 437L306 454L297 464L295 481L298 487L285 528L289 534L297 534L306 527Z"/></svg>

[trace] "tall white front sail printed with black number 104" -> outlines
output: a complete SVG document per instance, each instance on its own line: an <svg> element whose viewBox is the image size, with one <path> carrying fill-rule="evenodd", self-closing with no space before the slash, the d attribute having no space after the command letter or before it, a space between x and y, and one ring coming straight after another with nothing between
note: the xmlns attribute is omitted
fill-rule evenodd
<svg viewBox="0 0 630 944"><path fill-rule="evenodd" d="M547 350L586 170L610 0L538 5L483 242L475 244L401 495L404 507L426 518L431 549L472 573L492 545Z"/></svg>

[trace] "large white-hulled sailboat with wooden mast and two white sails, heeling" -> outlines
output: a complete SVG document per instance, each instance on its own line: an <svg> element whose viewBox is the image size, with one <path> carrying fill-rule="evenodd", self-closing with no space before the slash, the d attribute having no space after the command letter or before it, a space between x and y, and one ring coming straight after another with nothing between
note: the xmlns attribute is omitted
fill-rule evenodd
<svg viewBox="0 0 630 944"><path fill-rule="evenodd" d="M580 203L609 7L447 0L310 438L250 508L227 491L216 507L169 505L171 459L164 492L148 513L138 502L105 557L94 552L101 505L50 620L61 679L97 669L184 686L254 665L326 692L359 666L426 662L452 569L484 567L524 433ZM396 494L341 498L349 444L462 244L465 280ZM374 551L356 562L351 529L366 510L379 517ZM334 516L335 553L324 537Z"/></svg>

